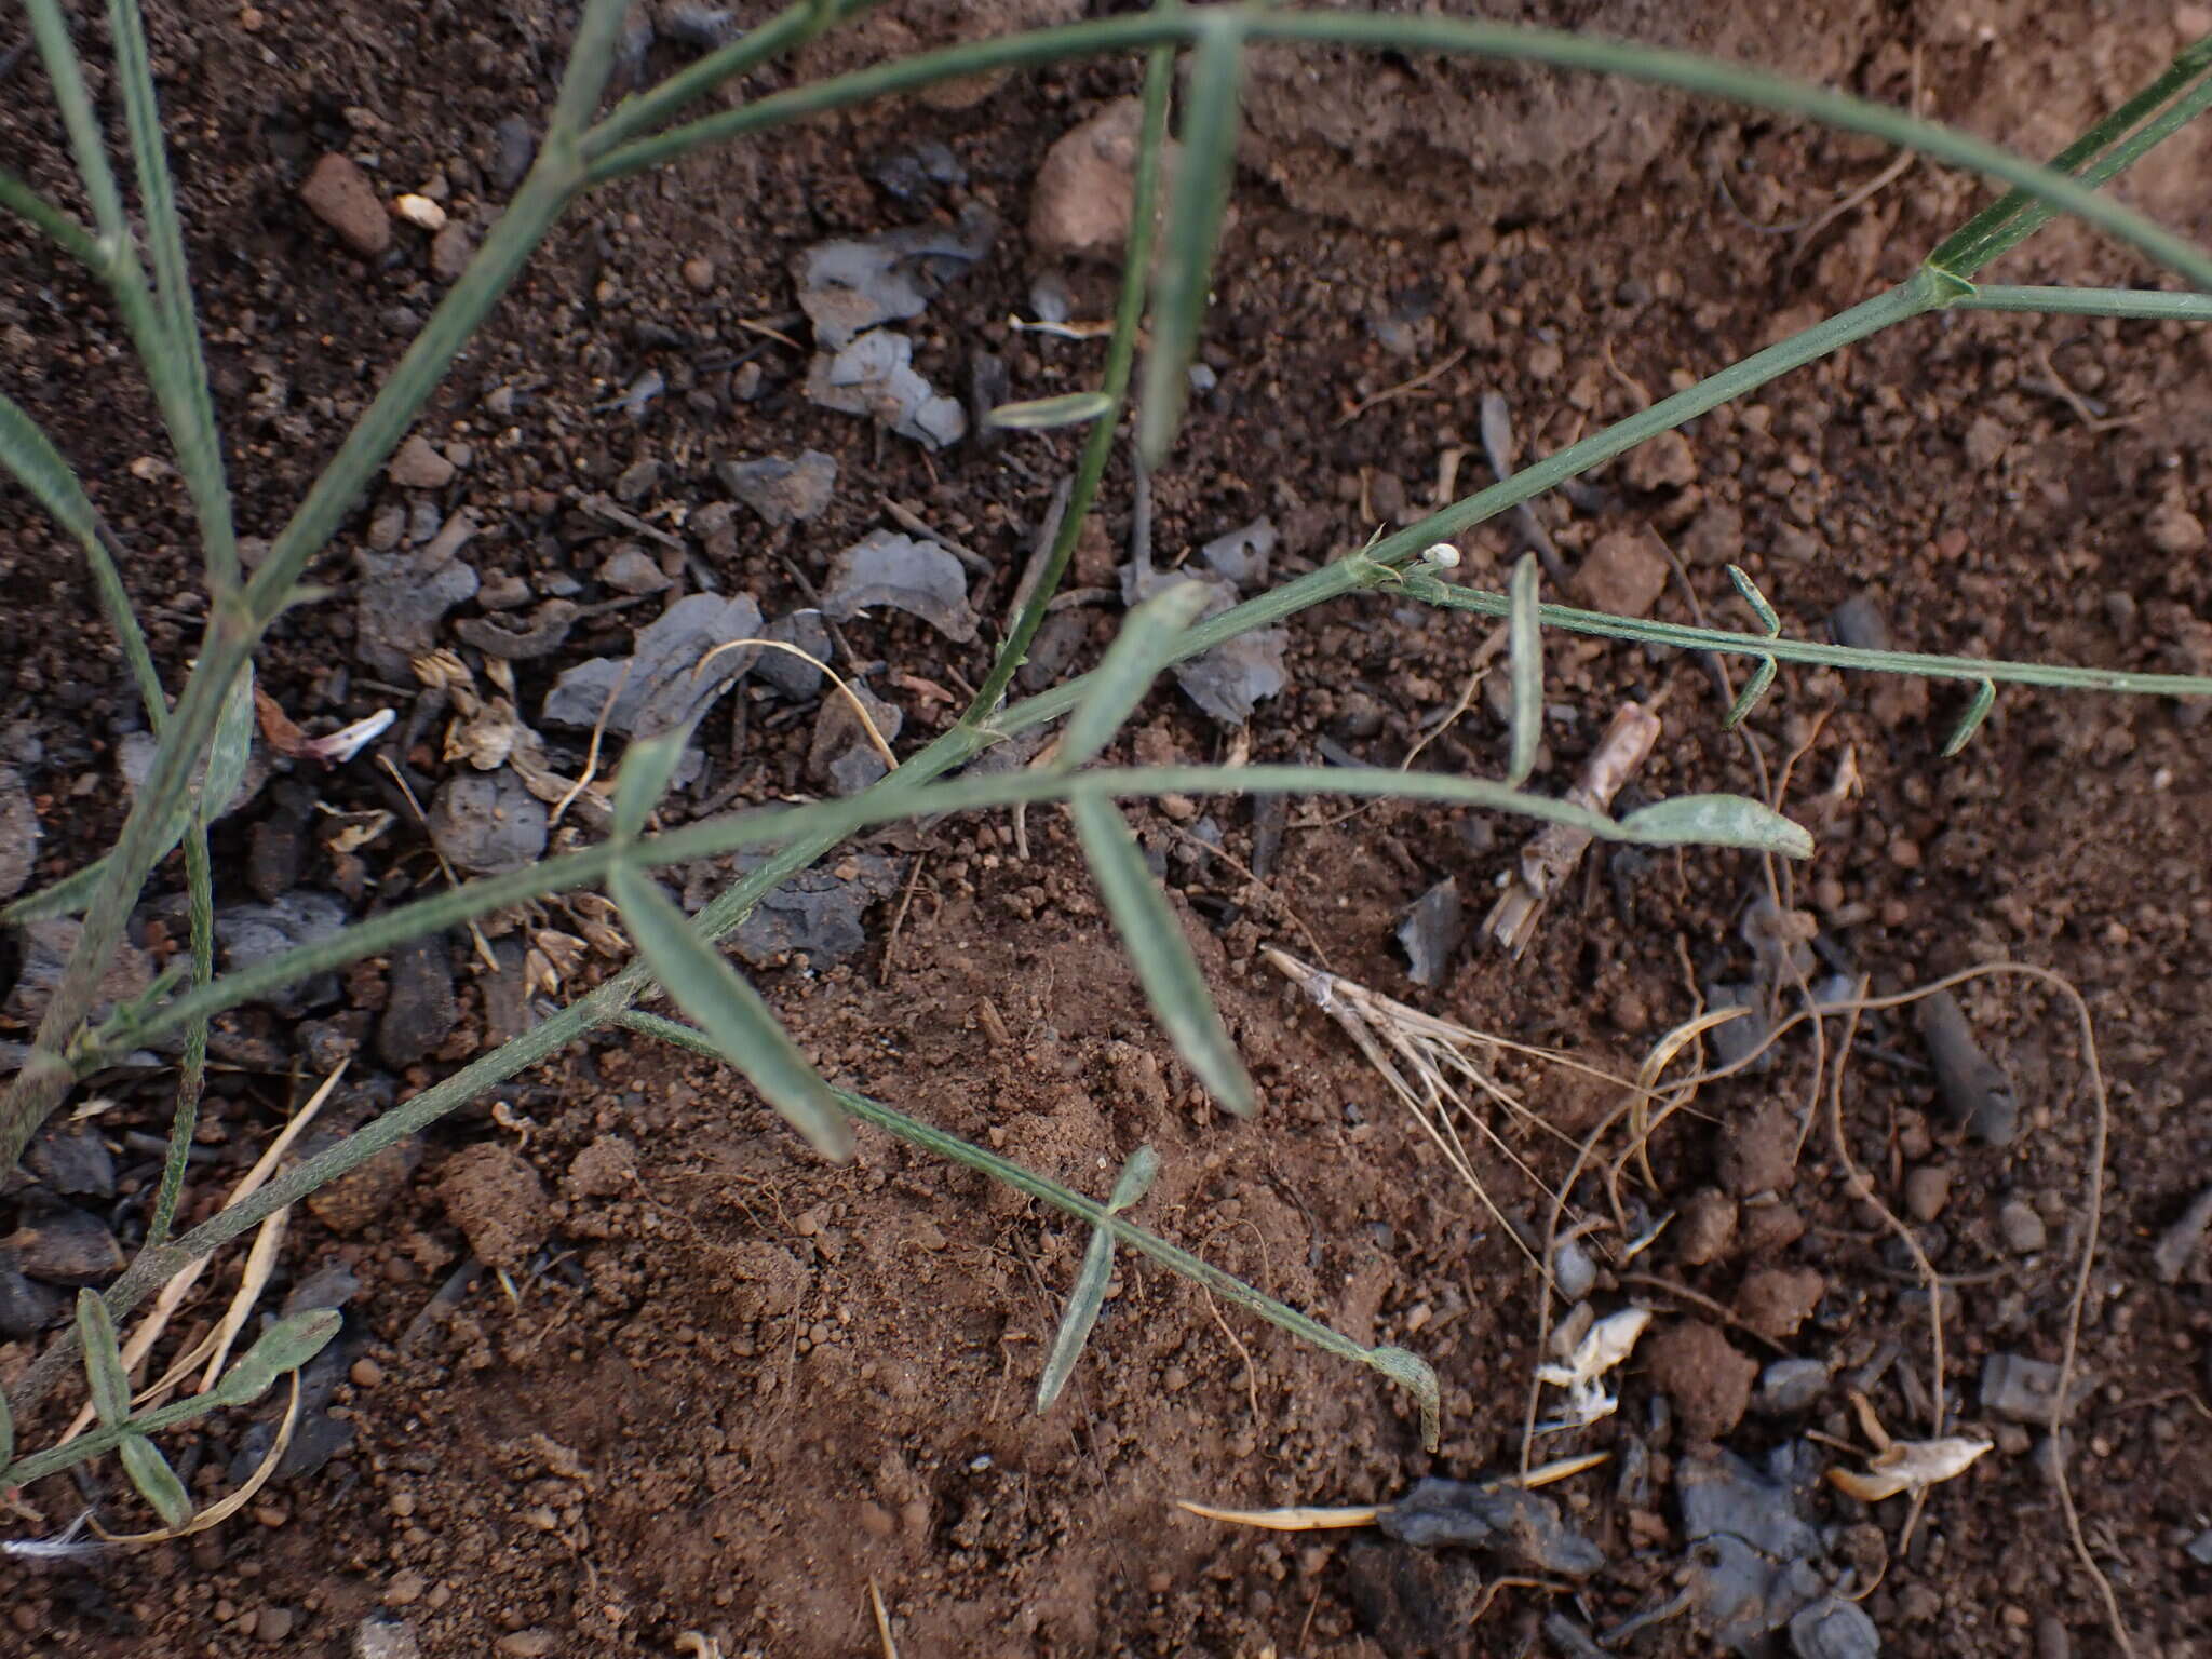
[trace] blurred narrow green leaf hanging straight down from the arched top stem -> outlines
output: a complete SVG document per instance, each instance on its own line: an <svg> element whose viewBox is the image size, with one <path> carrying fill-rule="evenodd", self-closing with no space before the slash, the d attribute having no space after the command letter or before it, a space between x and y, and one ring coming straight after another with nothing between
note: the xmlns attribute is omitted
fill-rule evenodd
<svg viewBox="0 0 2212 1659"><path fill-rule="evenodd" d="M1152 349L1144 361L1144 405L1137 451L1159 467L1183 420L1190 356L1199 345L1212 285L1221 215L1237 161L1237 106L1243 86L1243 31L1228 15L1206 15L1208 29L1190 55L1183 159L1175 168L1159 290L1152 305Z"/></svg>

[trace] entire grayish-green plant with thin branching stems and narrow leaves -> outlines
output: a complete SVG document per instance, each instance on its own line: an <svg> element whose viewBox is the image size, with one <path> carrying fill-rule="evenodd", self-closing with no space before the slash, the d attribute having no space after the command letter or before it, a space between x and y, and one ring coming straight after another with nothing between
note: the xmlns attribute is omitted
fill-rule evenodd
<svg viewBox="0 0 2212 1659"><path fill-rule="evenodd" d="M82 226L69 212L31 190L7 168L0 168L0 208L29 221L51 237L71 259L82 261L115 299L128 330L155 407L177 451L179 473L199 522L208 571L210 628L199 648L199 661L184 681L175 703L155 677L150 655L117 568L117 549L102 526L84 487L66 460L13 403L0 400L0 467L20 480L46 507L58 524L84 549L102 604L117 628L126 659L159 734L150 776L131 807L117 847L77 876L20 900L0 920L84 911L84 929L46 1020L38 1033L31 1064L0 1099L0 1168L11 1164L46 1115L64 1097L73 1075L82 1075L128 1051L153 1031L184 1026L188 1033L184 1086L173 1128L173 1168L164 1181L161 1206L153 1219L148 1250L126 1270L106 1298L80 1298L77 1334L86 1376L102 1427L69 1447L31 1458L13 1458L13 1418L0 1411L0 1480L20 1484L64 1469L80 1458L117 1449L126 1471L148 1502L175 1520L190 1504L150 1442L157 1433L212 1409L259 1398L276 1376L296 1369L338 1327L334 1312L303 1314L281 1321L241 1358L206 1396L131 1418L128 1383L122 1376L115 1345L113 1310L128 1310L175 1274L186 1261L201 1256L263 1217L296 1201L314 1186L356 1168L400 1135L416 1133L453 1110L484 1086L513 1075L555 1053L564 1042L595 1026L628 1022L675 1042L703 1046L730 1060L761 1088L776 1110L794 1121L821 1150L841 1155L849 1146L847 1117L869 1121L942 1157L987 1170L1040 1201L1053 1203L1095 1228L1095 1241L1077 1279L1062 1340L1053 1356L1053 1385L1066 1376L1082 1349L1097 1294L1110 1272L1113 1243L1144 1250L1228 1301L1248 1307L1332 1354L1365 1363L1409 1387L1422 1413L1422 1433L1436 1442L1436 1378L1416 1356L1402 1349L1367 1349L1332 1332L1318 1321L1272 1303L1241 1281L1221 1274L1177 1245L1135 1228L1115 1214L1141 1192L1139 1159L1124 1170L1113 1201L1099 1206L1060 1188L1020 1166L973 1148L933 1126L918 1124L880 1102L841 1095L807 1064L796 1044L776 1024L759 993L721 958L712 938L734 927L745 911L776 883L805 867L843 836L872 823L887 823L925 812L984 810L1066 801L1097 876L1099 891L1121 931L1137 975L1161 1026L1201 1082L1232 1110L1254 1106L1252 1084L1214 1011L1203 975L1183 938L1168 900L1144 865L1128 823L1113 805L1113 794L1159 794L1166 790L1340 790L1349 794L1405 794L1440 803L1475 805L1500 812L1522 812L1553 823L1573 823L1593 836L1650 843L1705 843L1721 847L1756 847L1790 856L1812 849L1803 830L1761 803L1736 796L1688 796L1663 801L1626 818L1613 821L1564 801L1520 792L1531 774L1542 723L1540 628L1573 628L1593 635L1635 639L1644 644L1690 650L1721 650L1750 657L1752 681L1732 719L1747 714L1774 681L1781 661L1832 664L1880 672L1916 672L1966 679L1973 701L1953 734L1962 745L1989 712L1997 684L2093 686L2124 692L2205 695L2212 681L2179 675L2128 675L2051 664L1993 664L1964 657L1916 657L1902 653L1863 653L1825 641L1787 639L1781 619L1765 595L1739 577L1739 588L1752 604L1761 633L1739 635L1710 628L1681 628L1646 619L1601 617L1537 602L1533 571L1515 573L1506 595L1480 593L1442 582L1436 568L1409 568L1418 553L1495 518L1502 511L1551 489L1579 471L1624 453L1637 442L1668 431L1683 420L1743 396L1745 392L1803 367L1856 338L1905 325L1911 319L1947 307L2046 310L2104 316L2157 316L2205 321L2212 301L2205 294L2146 294L2051 288L1978 288L1973 276L1997 254L2033 234L2055 212L2075 212L2135 248L2161 259L2199 288L2212 288L2212 257L2192 243L2159 230L2139 212L2097 186L2117 177L2152 144L2179 131L2212 102L2212 51L2208 44L2183 53L2150 88L2099 122L2070 146L2057 168L2039 168L2006 155L1980 139L1940 128L1911 115L1820 88L1794 86L1770 75L1701 60L1688 53L1652 51L1635 44L1586 40L1517 24L1462 20L1418 13L1363 11L1296 11L1265 4L1175 7L1148 13L1091 18L1077 24L1044 29L1000 40L964 42L907 60L876 64L827 82L787 86L776 93L739 102L732 108L684 119L717 88L732 84L750 69L792 51L823 29L865 9L865 0L801 0L783 13L750 29L659 86L626 97L599 117L606 75L613 64L615 38L622 29L626 0L586 0L575 49L551 106L551 122L540 146L540 159L509 201L498 226L465 276L451 285L422 334L409 345L389 380L361 422L345 436L330 467L316 478L296 515L274 538L252 580L241 588L230 491L223 478L221 442L208 396L206 365L195 321L190 274L184 259L184 230L175 186L161 148L159 108L146 51L137 0L108 0L108 29L115 51L115 75L124 128L131 146L131 175L139 192L144 254L115 170L106 157L100 111L86 91L77 44L60 0L27 0L31 33L46 64L46 77L62 126L69 135L84 199L93 223ZM1338 560L1321 571L1296 577L1208 622L1197 622L1197 602L1170 593L1139 608L1106 661L1088 677L1057 686L1015 706L1002 706L1002 695L1053 588L1066 568L1082 515L1091 509L1104 476L1110 445L1124 414L1124 398L1137 354L1146 310L1146 274L1152 270L1152 206L1161 179L1161 146L1168 131L1168 95L1175 82L1177 53L1188 51L1181 135L1186 159L1175 181L1166 215L1166 248L1159 259L1159 288L1152 299L1150 352L1144 367L1144 398L1137 409L1137 445L1148 465L1164 465L1177 436L1188 394L1188 365L1197 349L1214 272L1214 252L1223 223L1234 170L1239 126L1239 86L1243 51L1254 42L1338 44L1402 53L1480 53L1491 58L1531 60L1555 66L1630 75L1657 84L1708 93L1754 104L1759 108L1809 115L1834 126L1871 133L1907 144L1942 161L1973 166L2006 181L2008 195L1991 204L1907 283L1871 301L1816 323L1814 327L1730 365L1694 387L1672 394L1650 409L1524 467L1509 480L1455 502L1402 533L1376 542L1360 555ZM1130 261L1124 274L1115 334L1108 347L1099 389L1062 398L1042 398L998 411L1004 427L1053 427L1088 422L1082 465L1071 491L1068 522L1055 540L1048 577L1037 584L1009 630L1004 648L984 684L984 692L960 723L927 748L907 757L898 772L858 801L823 803L818 807L734 814L726 821L686 825L661 836L646 836L653 805L661 796L681 757L681 739L661 745L633 745L615 787L615 836L564 858L546 860L515 876L471 883L451 894L438 894L398 911L389 911L349 931L345 940L307 947L274 962L212 980L212 945L206 933L210 883L206 858L206 823L230 801L243 776L252 741L252 650L263 628L290 604L310 595L301 575L323 551L332 533L361 498L376 467L385 462L414 425L434 387L467 347L489 310L520 272L560 212L591 186L606 184L659 161L688 155L701 146L757 133L781 122L843 108L869 97L916 91L936 82L1064 62L1082 55L1141 53L1146 60L1146 124L1137 168L1137 206L1130 223ZM595 119L599 117L599 119ZM150 276L148 276L150 261ZM1398 586L1425 604L1480 615L1504 617L1511 637L1513 717L1511 763L1506 783L1478 779L1444 779L1431 774L1347 776L1310 768L1152 768L1135 772L1075 772L1095 759L1115 730L1128 719L1146 686L1161 668L1210 650L1239 633L1283 622L1310 606L1354 593ZM971 761L989 743L1020 730L1068 717L1062 739L1064 770L1044 776L964 779L947 774ZM86 1015L97 998L124 920L150 869L179 841L186 845L186 872L192 889L195 951L192 987L175 989L166 978L153 993L119 1009L97 1031L86 1029ZM648 874L655 865L681 863L714 849L739 845L774 847L774 856L752 876L717 898L699 918L686 918ZM288 1170L252 1199L234 1203L175 1243L164 1243L166 1214L175 1206L175 1183L181 1181L181 1152L190 1141L192 1106L197 1102L197 1040L206 1020L221 1009L254 995L356 960L405 940L414 933L453 927L460 920L533 898L604 880L639 949L639 960L619 975L549 1018L502 1051L480 1057L456 1077L411 1097L385 1117L365 1126L336 1148ZM630 1004L659 982L690 1013L701 1031L646 1015ZM1091 1314L1082 1314L1082 1305ZM1062 1349L1066 1349L1062 1354ZM55 1343L31 1369L18 1398L38 1398L60 1376L66 1345Z"/></svg>

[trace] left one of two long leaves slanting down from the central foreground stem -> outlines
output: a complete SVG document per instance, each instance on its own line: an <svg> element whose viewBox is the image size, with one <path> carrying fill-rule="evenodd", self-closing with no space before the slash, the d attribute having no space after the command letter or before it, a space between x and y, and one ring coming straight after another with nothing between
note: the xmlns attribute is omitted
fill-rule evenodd
<svg viewBox="0 0 2212 1659"><path fill-rule="evenodd" d="M823 1075L799 1053L799 1044L770 1013L768 1002L739 978L737 969L692 931L675 900L644 872L617 863L608 889L622 909L653 975L668 995L714 1040L723 1060L761 1091L785 1121L823 1157L852 1152L852 1124Z"/></svg>

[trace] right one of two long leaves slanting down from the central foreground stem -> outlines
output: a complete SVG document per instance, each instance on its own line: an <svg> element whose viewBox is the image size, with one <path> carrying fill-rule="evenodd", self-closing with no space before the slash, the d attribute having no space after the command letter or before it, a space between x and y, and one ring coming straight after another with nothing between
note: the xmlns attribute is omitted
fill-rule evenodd
<svg viewBox="0 0 2212 1659"><path fill-rule="evenodd" d="M1237 1057L1237 1044L1221 1024L1199 958L1183 938L1183 925L1168 909L1166 894L1144 867L1144 852L1121 812L1102 794L1077 794L1068 801L1075 814L1075 834L1084 843L1084 858L1091 860L1091 878L1106 900L1128 960L1137 969L1152 1015L1159 1020L1175 1051L1190 1064L1206 1084L1206 1091L1239 1117L1250 1117L1254 1106L1252 1079Z"/></svg>

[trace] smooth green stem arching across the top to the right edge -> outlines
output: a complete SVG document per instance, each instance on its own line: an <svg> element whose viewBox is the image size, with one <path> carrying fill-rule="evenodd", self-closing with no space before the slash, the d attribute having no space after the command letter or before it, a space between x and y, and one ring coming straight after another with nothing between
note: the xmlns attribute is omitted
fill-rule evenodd
<svg viewBox="0 0 2212 1659"><path fill-rule="evenodd" d="M743 108L706 115L697 122L619 144L591 166L591 181L604 184L686 155L741 133L757 133L805 115L821 115L889 93L911 93L942 80L960 80L995 69L1022 69L1071 58L1144 51L1159 44L1188 44L1212 29L1228 27L1228 7L1206 7L1203 13L1159 11L1126 18L1099 18L1037 29L995 40L978 40L942 51L918 53L889 64L876 64L834 80L796 86L761 97ZM2093 188L2051 168L2026 161L2008 150L1966 133L1922 122L1882 104L1869 104L1847 93L1801 86L1736 64L1719 64L1679 51L1661 51L1635 42L1590 40L1551 29L1464 18L1367 13L1367 11L1250 11L1241 24L1252 42L1307 42L1367 46L1376 51L1438 51L1542 62L1557 69L1588 69L1628 80L1679 86L1754 108L1785 115L1809 115L1827 126L1918 150L1936 161L1973 168L2024 188L2028 195L2099 226L2119 241L2141 248L2152 259L2185 274L2199 288L2212 290L2212 254L2154 226L2126 204L2099 197Z"/></svg>

